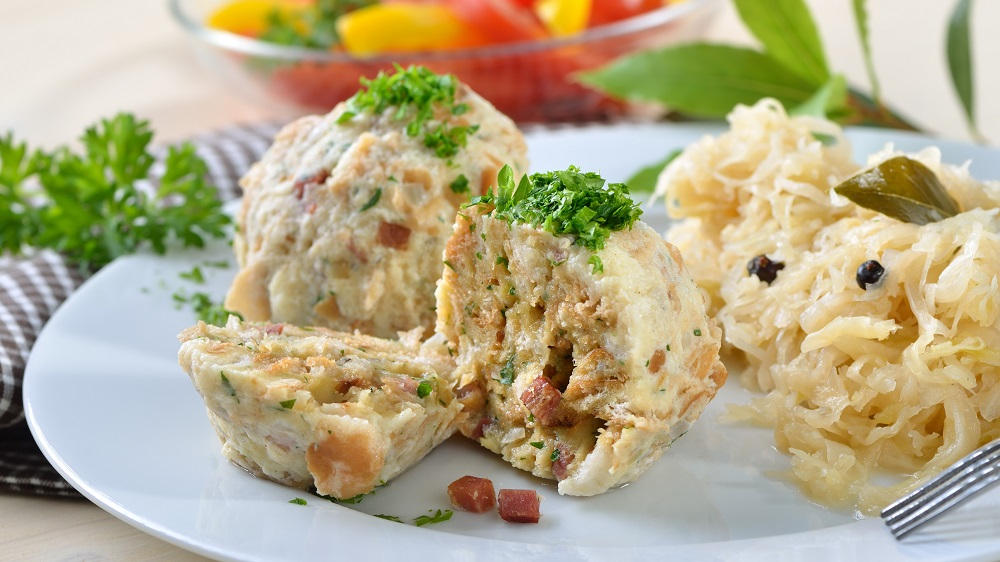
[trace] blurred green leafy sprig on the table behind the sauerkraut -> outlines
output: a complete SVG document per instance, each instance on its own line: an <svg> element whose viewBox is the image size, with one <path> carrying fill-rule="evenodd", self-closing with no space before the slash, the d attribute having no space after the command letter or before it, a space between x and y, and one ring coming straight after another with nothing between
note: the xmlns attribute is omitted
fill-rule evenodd
<svg viewBox="0 0 1000 562"><path fill-rule="evenodd" d="M865 0L852 0L871 94L831 72L822 39L803 0L733 0L761 48L713 43L677 45L628 55L579 79L615 97L652 101L692 117L721 118L736 104L776 98L795 114L825 116L845 125L917 130L888 107L872 61ZM977 138L969 48L971 0L959 0L948 28L955 89Z"/></svg>

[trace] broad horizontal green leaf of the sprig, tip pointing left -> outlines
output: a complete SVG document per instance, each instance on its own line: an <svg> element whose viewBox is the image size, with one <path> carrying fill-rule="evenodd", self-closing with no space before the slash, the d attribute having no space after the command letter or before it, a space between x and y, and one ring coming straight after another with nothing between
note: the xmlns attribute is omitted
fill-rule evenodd
<svg viewBox="0 0 1000 562"><path fill-rule="evenodd" d="M734 105L763 97L795 107L816 90L764 53L706 43L629 55L579 78L620 98L660 102L701 117L724 117Z"/></svg>

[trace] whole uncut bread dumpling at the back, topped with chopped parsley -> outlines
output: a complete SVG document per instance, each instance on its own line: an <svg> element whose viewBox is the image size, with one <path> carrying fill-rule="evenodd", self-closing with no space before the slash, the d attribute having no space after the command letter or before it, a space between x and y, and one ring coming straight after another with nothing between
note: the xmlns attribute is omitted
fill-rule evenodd
<svg viewBox="0 0 1000 562"><path fill-rule="evenodd" d="M241 181L226 307L380 337L429 331L455 212L504 164L526 168L524 139L467 86L419 67L380 75L285 127Z"/></svg>

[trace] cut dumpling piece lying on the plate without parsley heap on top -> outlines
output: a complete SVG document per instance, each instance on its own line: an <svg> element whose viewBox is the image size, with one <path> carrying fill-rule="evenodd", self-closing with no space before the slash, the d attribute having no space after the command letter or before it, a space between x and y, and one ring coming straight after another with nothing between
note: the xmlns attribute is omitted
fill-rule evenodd
<svg viewBox="0 0 1000 562"><path fill-rule="evenodd" d="M455 431L453 363L433 339L323 328L199 323L180 364L223 454L276 482L349 498L413 465Z"/></svg>

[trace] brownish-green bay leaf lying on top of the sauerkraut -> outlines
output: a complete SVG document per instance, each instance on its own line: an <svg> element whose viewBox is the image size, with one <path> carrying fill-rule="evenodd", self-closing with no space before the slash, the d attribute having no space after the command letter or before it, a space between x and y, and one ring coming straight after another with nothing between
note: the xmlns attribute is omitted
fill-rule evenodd
<svg viewBox="0 0 1000 562"><path fill-rule="evenodd" d="M934 172L905 156L865 170L835 190L866 209L914 224L936 222L960 212Z"/></svg>

